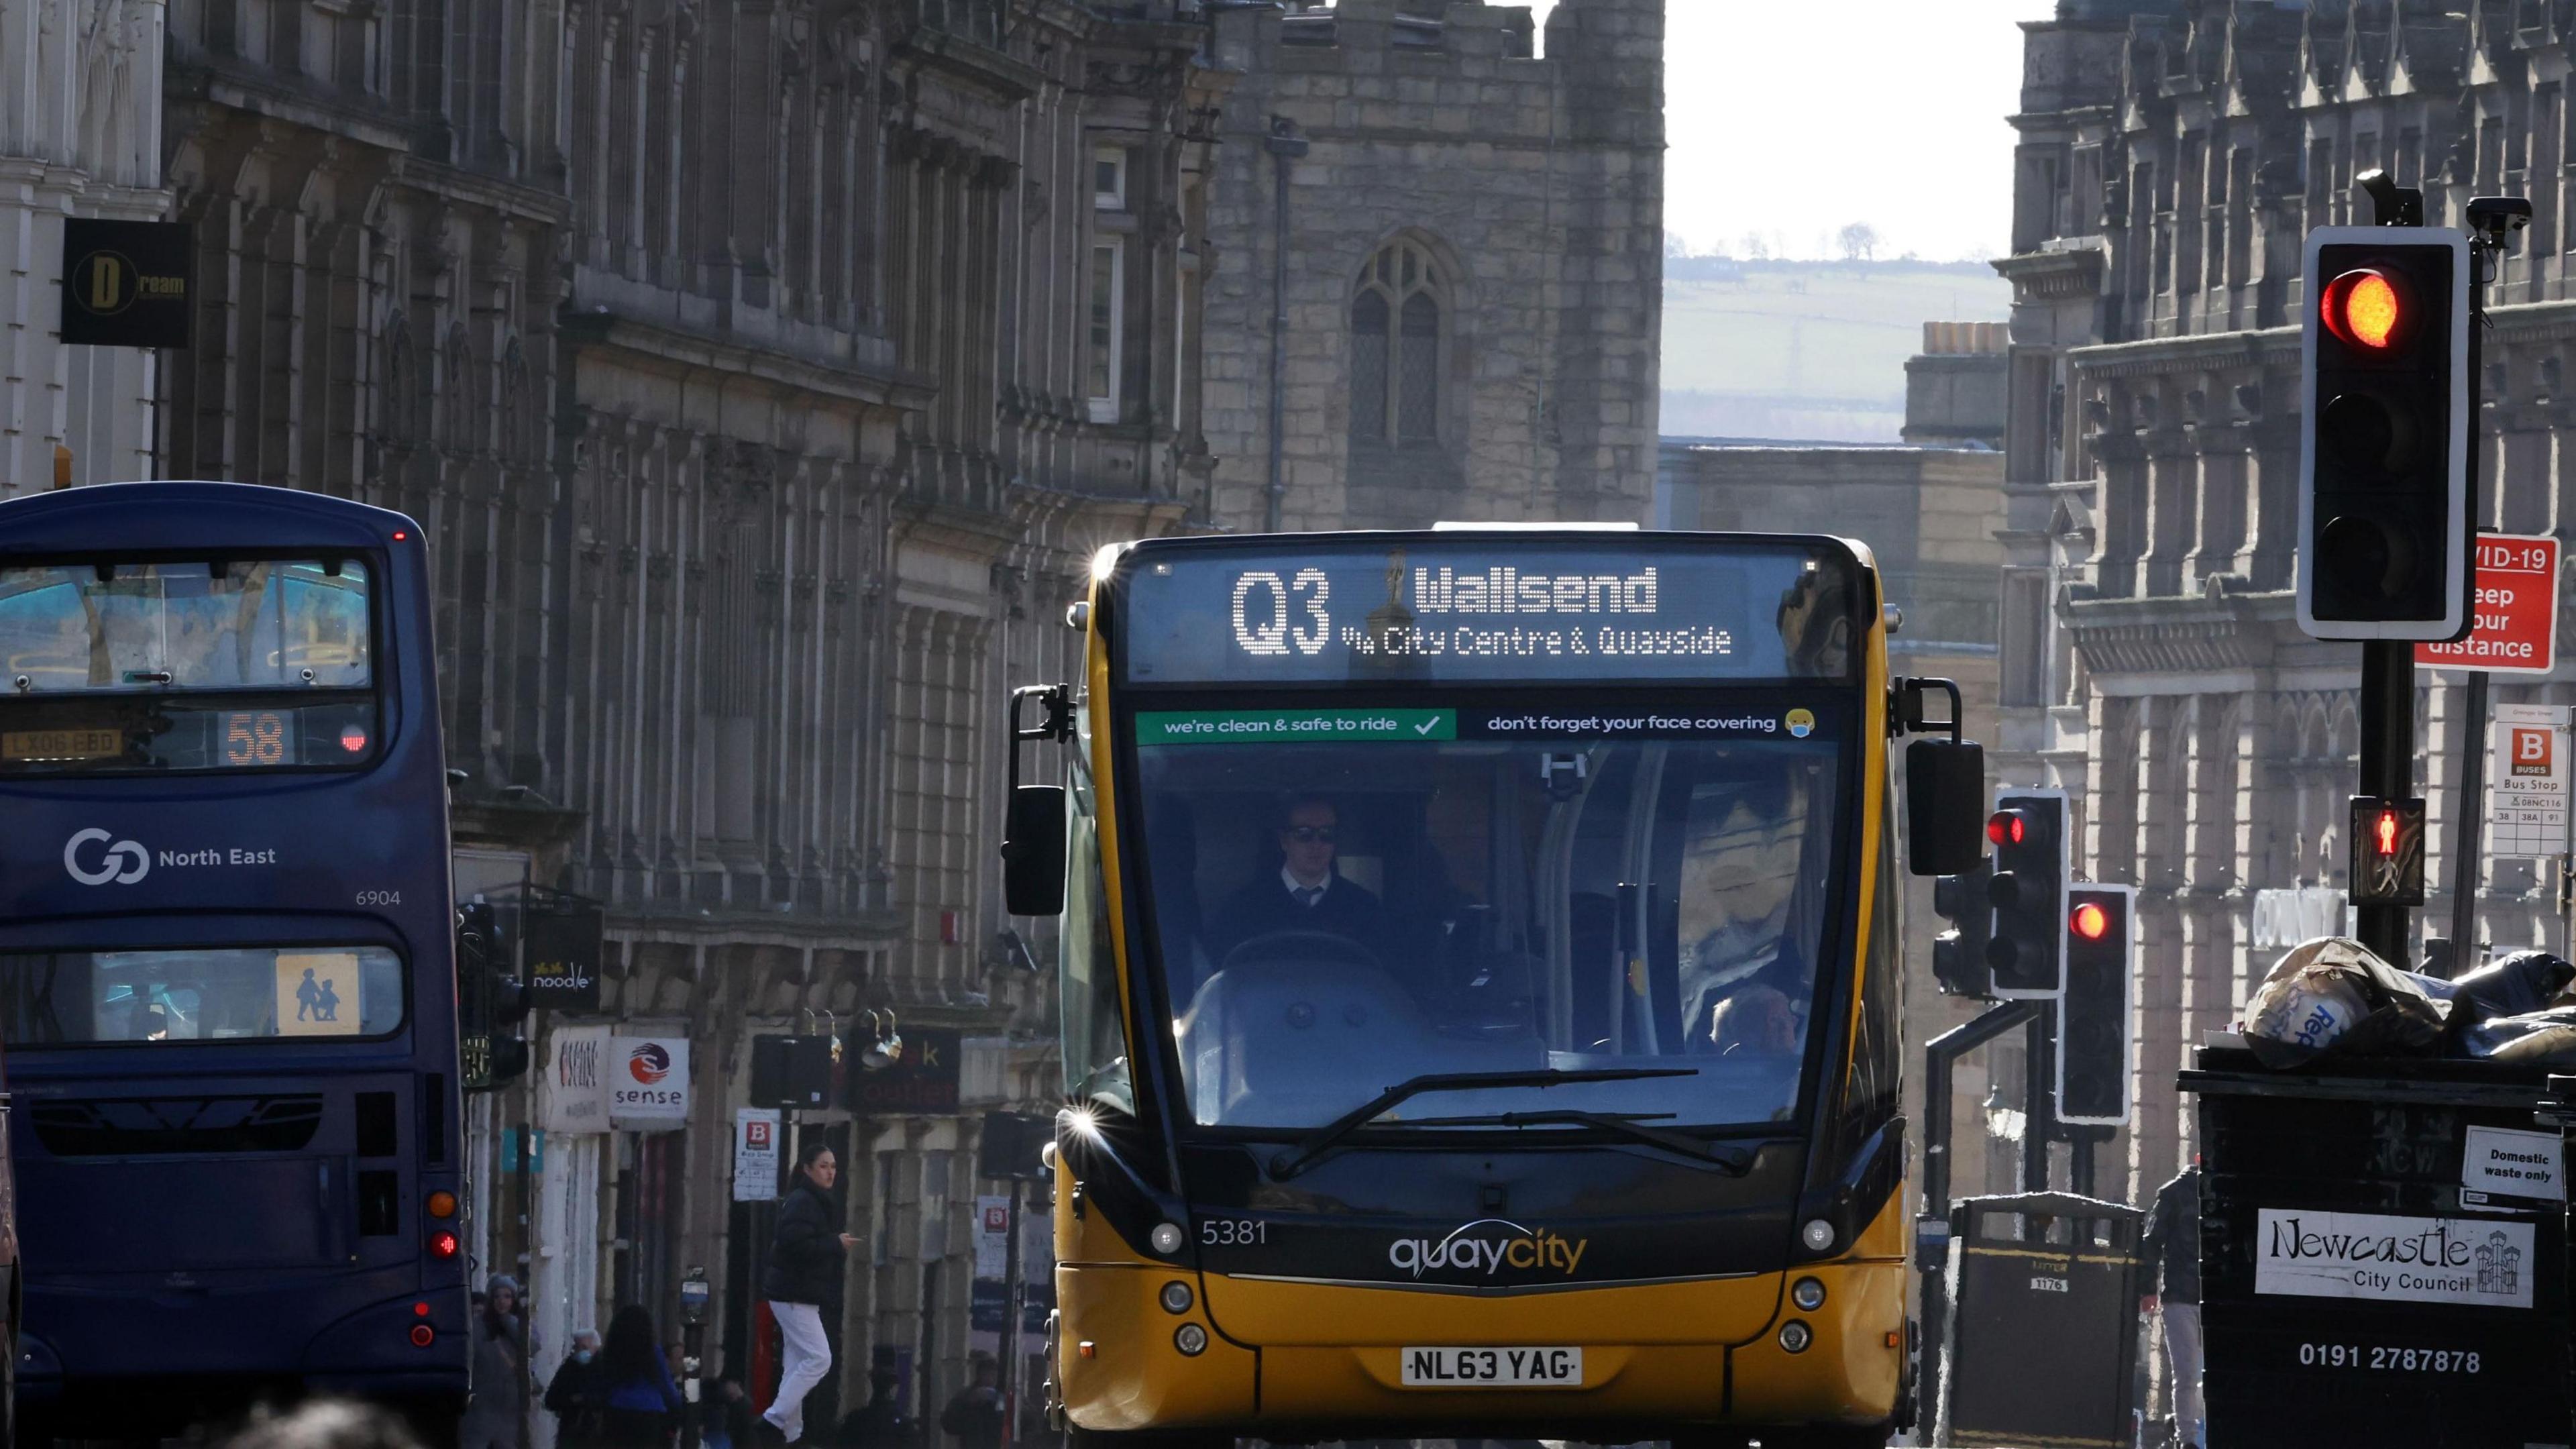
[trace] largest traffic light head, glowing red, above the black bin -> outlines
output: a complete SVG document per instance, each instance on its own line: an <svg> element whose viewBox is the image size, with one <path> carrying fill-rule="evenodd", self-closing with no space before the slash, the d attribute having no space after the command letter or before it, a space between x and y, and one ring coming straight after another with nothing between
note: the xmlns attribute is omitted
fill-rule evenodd
<svg viewBox="0 0 2576 1449"><path fill-rule="evenodd" d="M2458 232L2308 235L2298 621L2318 639L2468 627L2470 278Z"/></svg>

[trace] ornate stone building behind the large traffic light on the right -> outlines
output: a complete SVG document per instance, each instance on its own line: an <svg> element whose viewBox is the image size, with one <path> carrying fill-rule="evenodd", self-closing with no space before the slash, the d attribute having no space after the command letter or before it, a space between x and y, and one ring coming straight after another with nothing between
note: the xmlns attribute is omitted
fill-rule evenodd
<svg viewBox="0 0 2576 1449"><path fill-rule="evenodd" d="M2105 1191L2192 1150L2174 1070L2269 967L2262 892L2344 884L2360 650L2300 634L2300 248L2352 178L2458 227L2522 193L2491 289L2486 529L2558 534L2571 441L2576 5L2061 0L2025 26L2014 162L2002 737L2012 784L2076 799L2081 871L2141 887L2138 1119ZM2563 676L2566 670L2561 670ZM2447 936L2460 673L2419 673L2419 786ZM2499 701L2576 699L2496 676ZM2481 941L2550 944L2548 869L2488 861Z"/></svg>

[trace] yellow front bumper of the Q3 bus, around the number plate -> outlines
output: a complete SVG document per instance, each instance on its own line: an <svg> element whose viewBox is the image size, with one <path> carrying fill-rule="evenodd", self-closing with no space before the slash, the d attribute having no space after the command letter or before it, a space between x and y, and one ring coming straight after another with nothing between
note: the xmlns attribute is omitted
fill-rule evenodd
<svg viewBox="0 0 2576 1449"><path fill-rule="evenodd" d="M1628 1284L1525 1297L1417 1294L1355 1284L1257 1284L1260 1315L1172 1315L1154 1266L1059 1266L1056 1392L1092 1431L1234 1428L1262 1439L1388 1436L1406 1426L1582 1428L1605 1423L1886 1423L1904 1382L1906 1269L1816 1263L1795 1274ZM1790 1279L1826 1287L1821 1312ZM1229 1281L1239 1305L1255 1284ZM1252 1318L1252 1323L1244 1323ZM1783 1346L1795 1320L1806 1346ZM1206 1348L1180 1348L1182 1325ZM1412 1387L1409 1348L1582 1348L1574 1387ZM1546 1436L1546 1434L1538 1434ZM1638 1434L1656 1436L1656 1434Z"/></svg>

